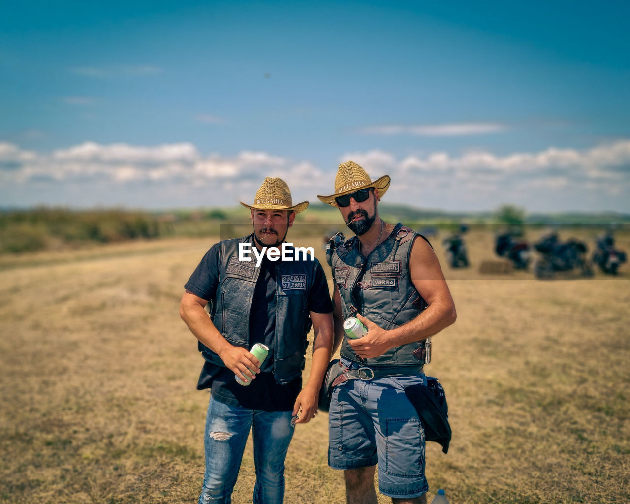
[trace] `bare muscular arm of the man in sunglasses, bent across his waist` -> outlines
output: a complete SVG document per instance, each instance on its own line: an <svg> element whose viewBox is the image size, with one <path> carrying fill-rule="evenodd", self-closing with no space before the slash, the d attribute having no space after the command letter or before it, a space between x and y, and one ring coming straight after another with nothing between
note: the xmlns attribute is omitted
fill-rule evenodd
<svg viewBox="0 0 630 504"><path fill-rule="evenodd" d="M455 303L440 263L430 245L421 238L413 243L409 274L418 294L427 301L427 309L412 321L389 331L358 315L358 319L368 329L367 335L363 338L349 340L359 357L378 357L398 345L425 340L455 322L457 318Z"/></svg>

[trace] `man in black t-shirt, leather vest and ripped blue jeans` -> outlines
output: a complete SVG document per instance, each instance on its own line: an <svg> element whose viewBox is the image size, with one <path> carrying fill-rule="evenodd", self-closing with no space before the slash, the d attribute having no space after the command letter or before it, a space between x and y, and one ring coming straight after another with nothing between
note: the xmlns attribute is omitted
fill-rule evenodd
<svg viewBox="0 0 630 504"><path fill-rule="evenodd" d="M253 501L282 503L284 461L294 426L307 423L317 411L333 343L326 276L318 260L306 254L280 260L262 254L287 245L295 215L308 204L294 205L284 180L265 178L254 203L241 202L251 210L253 233L214 244L186 282L180 314L205 358L197 388L211 392L200 504L231 502L250 427ZM243 249L255 249L261 261L246 260ZM311 323L311 375L302 389ZM255 351L255 343L268 348L262 364L248 352Z"/></svg>

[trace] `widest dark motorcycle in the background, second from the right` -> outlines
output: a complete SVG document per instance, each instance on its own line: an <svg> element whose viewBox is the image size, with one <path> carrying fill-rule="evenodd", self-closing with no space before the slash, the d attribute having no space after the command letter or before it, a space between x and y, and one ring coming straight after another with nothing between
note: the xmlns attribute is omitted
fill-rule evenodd
<svg viewBox="0 0 630 504"><path fill-rule="evenodd" d="M553 278L556 272L578 270L581 275L590 277L593 270L587 261L587 246L582 241L571 238L562 243L555 232L547 234L534 244L541 258L534 264L536 278Z"/></svg>

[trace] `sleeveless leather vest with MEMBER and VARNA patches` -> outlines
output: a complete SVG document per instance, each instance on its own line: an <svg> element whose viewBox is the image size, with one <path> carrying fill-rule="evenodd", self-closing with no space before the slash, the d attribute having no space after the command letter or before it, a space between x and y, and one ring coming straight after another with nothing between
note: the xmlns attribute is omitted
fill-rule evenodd
<svg viewBox="0 0 630 504"><path fill-rule="evenodd" d="M354 236L337 247L333 255L333 277L341 297L343 318L357 312L383 329L393 329L415 319L427 302L411 283L407 265L414 238L420 236L397 224L389 237L366 258L358 249ZM343 336L341 357L364 365L397 366L423 363L413 355L423 342L390 348L383 355L361 360Z"/></svg>

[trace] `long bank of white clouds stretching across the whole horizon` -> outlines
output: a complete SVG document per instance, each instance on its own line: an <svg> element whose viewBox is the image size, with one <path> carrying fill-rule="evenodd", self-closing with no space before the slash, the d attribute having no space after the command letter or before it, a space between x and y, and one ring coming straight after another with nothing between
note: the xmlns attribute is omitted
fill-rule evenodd
<svg viewBox="0 0 630 504"><path fill-rule="evenodd" d="M339 157L340 162L348 159L373 178L391 175L386 202L444 209L489 209L513 202L532 210L558 202L564 208L583 209L588 204L593 209L630 211L624 198L630 192L630 139L591 149L549 147L505 156L435 151L400 157L370 150ZM86 193L98 188L100 197L117 204L127 198L127 204L136 205L145 198L144 204L150 206L233 205L239 198L251 200L265 176L286 180L296 202L313 201L317 194L333 192L335 173L336 166L322 169L265 151L202 154L190 142L158 146L83 142L47 153L0 142L4 204L52 203L50 198L66 188L82 187ZM49 200L37 199L38 190ZM198 200L193 202L188 194ZM74 200L78 197L75 193ZM33 202L25 203L26 198Z"/></svg>

